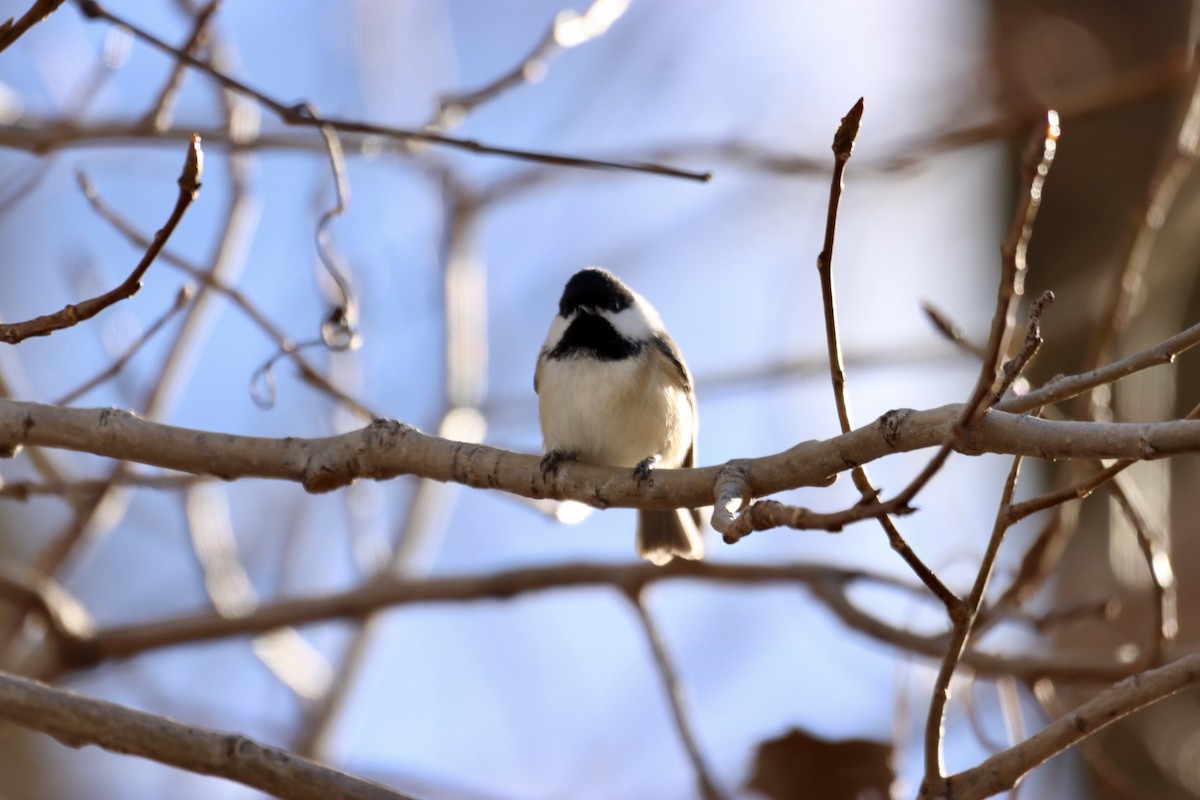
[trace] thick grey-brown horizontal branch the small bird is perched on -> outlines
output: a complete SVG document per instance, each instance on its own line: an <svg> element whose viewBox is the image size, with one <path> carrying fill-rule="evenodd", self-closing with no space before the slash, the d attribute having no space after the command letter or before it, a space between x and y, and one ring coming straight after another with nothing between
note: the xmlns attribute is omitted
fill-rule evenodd
<svg viewBox="0 0 1200 800"><path fill-rule="evenodd" d="M823 486L832 475L887 455L941 445L962 405L889 411L850 433L803 441L790 450L740 461L755 497ZM330 492L355 479L416 475L527 498L578 500L595 507L702 507L713 501L721 467L659 469L640 482L629 470L565 465L550 481L540 457L439 439L401 422L376 420L350 433L319 439L241 437L143 420L118 409L77 409L0 399L0 451L22 445L74 450L223 480L295 481ZM990 411L964 452L1038 458L1152 459L1200 452L1200 421L1072 422Z"/></svg>

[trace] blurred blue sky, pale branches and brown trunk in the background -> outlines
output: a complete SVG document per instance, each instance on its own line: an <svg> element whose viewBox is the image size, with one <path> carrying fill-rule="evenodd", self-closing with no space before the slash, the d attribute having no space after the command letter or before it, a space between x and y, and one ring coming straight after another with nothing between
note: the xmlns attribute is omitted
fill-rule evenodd
<svg viewBox="0 0 1200 800"><path fill-rule="evenodd" d="M1034 374L1078 371L1147 198L1172 163L1192 84L1194 17L1183 0L104 7L176 47L192 42L198 58L284 106L714 175L704 184L347 134L344 210L322 225L338 197L318 131L282 124L209 76L173 76L170 58L65 4L0 54L4 320L124 279L144 249L138 236L152 236L169 213L193 131L204 137L203 190L136 297L0 350L0 391L263 437L328 435L383 416L539 452L534 359L564 282L590 264L648 297L682 348L698 387L701 464L835 435L815 264L829 145L859 97L866 112L834 258L856 423L970 392L977 361L930 324L923 303L967 339L986 338L1015 163L1046 107L1062 114L1063 138L1028 295L1054 289L1058 302ZM0 19L25 11L0 0ZM1195 317L1193 184L1184 169L1135 293L1135 321L1112 353L1136 351ZM322 344L323 323L346 303L330 267L355 301L354 348ZM106 379L85 385L97 375ZM1118 396L1121 419L1168 419L1195 402L1186 379L1146 380ZM871 476L899 489L926 457L888 458L870 465ZM1188 486L1194 468L1174 464L1142 465L1136 481L1186 576L1181 565L1195 559L1186 541L1171 542L1171 512L1195 517L1192 495L1172 500L1171 481ZM919 497L920 512L900 521L956 590L973 579L1007 468L1007 458L954 458ZM1066 480L1056 470L1028 464L1022 495ZM636 558L632 511L581 515L414 479L307 495L294 485L180 480L66 452L25 453L0 475L10 486L59 487L0 498L0 555L56 577L101 627L236 615L382 573L416 582ZM780 499L832 511L858 495L844 476ZM1048 561L1051 578L1031 608L1121 599L1120 624L1072 620L1048 636L1008 625L989 648L1108 655L1145 637L1148 573L1105 504L1098 498L1062 525L1087 535L1055 540L1050 552L1064 561ZM1010 534L998 584L1031 542L1045 542L1044 524ZM736 546L709 531L709 553L716 563L821 564L913 583L868 523L836 536L760 533ZM1186 642L1200 599L1186 577L1181 585ZM943 630L928 599L866 589L852 599L874 616ZM664 581L643 607L720 793L763 796L761 783L748 787L755 754L793 729L811 739L786 758L799 763L816 747L804 742L816 740L880 742L865 756L835 748L822 763L877 766L895 796L916 792L936 664L851 631L796 583ZM0 607L6 669L37 651L40 632L23 620L19 608ZM241 732L416 796L700 796L644 625L617 587L409 604L156 649L58 682ZM1060 688L1063 702L1085 697ZM1012 680L980 678L955 691L972 703L950 706L950 770L1055 712L1046 692ZM1200 762L1178 734L1200 729L1194 698L1159 711L1170 721L1142 715L1085 758L1042 768L1021 794L1200 795ZM0 741L7 798L254 796L10 727ZM786 796L854 796L821 790Z"/></svg>

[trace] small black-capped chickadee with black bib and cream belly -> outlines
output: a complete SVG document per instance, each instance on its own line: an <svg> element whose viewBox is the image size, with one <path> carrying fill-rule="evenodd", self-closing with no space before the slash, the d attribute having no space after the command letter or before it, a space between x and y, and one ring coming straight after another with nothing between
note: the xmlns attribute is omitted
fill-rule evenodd
<svg viewBox="0 0 1200 800"><path fill-rule="evenodd" d="M691 374L658 312L612 272L576 272L538 354L533 378L546 456L630 467L696 464ZM704 557L694 510L637 512L637 554L658 565Z"/></svg>

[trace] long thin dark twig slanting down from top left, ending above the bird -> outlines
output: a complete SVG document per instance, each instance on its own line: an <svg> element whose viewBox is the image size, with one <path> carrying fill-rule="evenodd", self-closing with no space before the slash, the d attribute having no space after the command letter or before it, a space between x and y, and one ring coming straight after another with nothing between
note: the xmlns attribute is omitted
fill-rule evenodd
<svg viewBox="0 0 1200 800"><path fill-rule="evenodd" d="M682 178L685 180L694 180L701 182L708 182L712 180L712 173L695 173L684 169L676 169L674 167L666 167L664 164L647 164L647 163L632 163L632 162L619 162L619 161L604 161L599 158L582 158L576 156L564 156L550 152L538 152L533 150L518 150L515 148L498 148L493 145L486 145L474 139L457 139L449 136L443 136L439 133L432 133L427 131L412 131L406 128L390 127L385 125L376 125L373 122L364 122L359 120L338 119L331 116L317 116L307 110L305 103L295 103L287 106L280 101L263 94L262 91L253 89L246 83L238 80L214 67L210 64L200 61L193 55L173 47L168 42L158 38L154 34L150 34L143 28L139 28L128 19L124 19L112 13L103 6L101 6L96 0L76 0L76 5L79 6L80 12L90 19L104 19L114 25L124 25L136 37L151 44L158 50L170 55L178 61L186 64L200 72L208 74L214 80L220 83L226 89L239 92L252 97L258 103L264 106L268 110L274 113L284 125L295 125L304 127L322 128L324 126L330 126L341 131L343 133L366 133L378 137L384 137L389 139L398 139L407 143L424 143L431 145L439 145L445 148L455 148L457 150L466 150L468 152L474 152L478 155L492 155L492 156L504 156L508 158L517 158L521 161L533 161L544 164L554 164L559 167L580 167L586 169L618 169L637 173L648 173L652 175L661 175L665 178Z"/></svg>

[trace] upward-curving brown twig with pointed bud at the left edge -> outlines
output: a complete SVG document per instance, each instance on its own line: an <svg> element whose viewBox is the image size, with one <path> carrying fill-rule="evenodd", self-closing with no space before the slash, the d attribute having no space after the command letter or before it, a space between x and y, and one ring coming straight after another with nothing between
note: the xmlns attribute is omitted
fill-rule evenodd
<svg viewBox="0 0 1200 800"><path fill-rule="evenodd" d="M0 324L0 341L8 344L17 344L31 336L49 336L55 331L78 325L91 319L109 306L127 300L142 288L142 277L154 264L162 246L167 243L170 234L175 231L179 221L184 218L184 212L192 204L200 191L200 174L204 167L204 152L200 150L200 137L192 134L191 144L187 148L187 158L184 162L184 172L179 175L179 198L175 207L167 218L167 223L155 234L154 241L146 248L145 254L138 265L133 267L128 277L119 287L97 297L90 297L78 305L68 305L59 312L30 319L24 323Z"/></svg>

